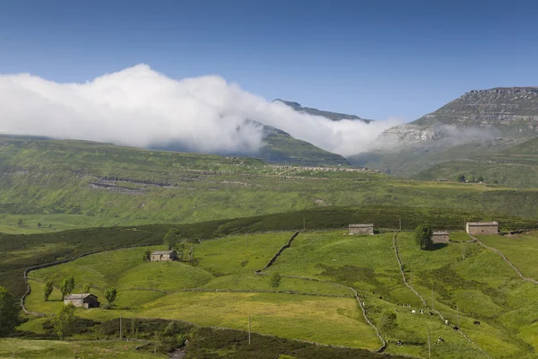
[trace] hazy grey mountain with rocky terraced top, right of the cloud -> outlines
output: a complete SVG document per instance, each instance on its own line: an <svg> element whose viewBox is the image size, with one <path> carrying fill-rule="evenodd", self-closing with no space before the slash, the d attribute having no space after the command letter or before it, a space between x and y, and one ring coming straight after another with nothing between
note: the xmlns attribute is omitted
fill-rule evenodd
<svg viewBox="0 0 538 359"><path fill-rule="evenodd" d="M387 129L377 137L377 150L348 161L416 177L439 163L502 153L534 136L538 87L471 91L409 124Z"/></svg>

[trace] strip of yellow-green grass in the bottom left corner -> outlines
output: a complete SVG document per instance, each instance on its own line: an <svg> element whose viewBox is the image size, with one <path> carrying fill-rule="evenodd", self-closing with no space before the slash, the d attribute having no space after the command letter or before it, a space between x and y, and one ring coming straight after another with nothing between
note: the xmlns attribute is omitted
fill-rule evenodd
<svg viewBox="0 0 538 359"><path fill-rule="evenodd" d="M0 339L0 358L67 359L67 358L165 358L134 351L136 342L119 341L55 341Z"/></svg>

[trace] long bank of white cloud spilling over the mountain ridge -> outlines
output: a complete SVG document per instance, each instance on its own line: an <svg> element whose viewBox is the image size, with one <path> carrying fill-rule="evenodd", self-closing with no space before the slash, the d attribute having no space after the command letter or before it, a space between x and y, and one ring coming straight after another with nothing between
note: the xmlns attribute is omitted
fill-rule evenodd
<svg viewBox="0 0 538 359"><path fill-rule="evenodd" d="M368 148L401 120L334 122L296 112L210 75L173 80L138 65L88 83L0 75L0 132L146 147L176 141L204 153L254 153L263 138L253 119L327 151Z"/></svg>

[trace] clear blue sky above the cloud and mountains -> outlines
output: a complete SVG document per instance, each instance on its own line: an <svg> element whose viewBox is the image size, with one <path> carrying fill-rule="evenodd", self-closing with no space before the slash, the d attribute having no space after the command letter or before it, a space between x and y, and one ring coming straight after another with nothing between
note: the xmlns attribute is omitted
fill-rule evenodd
<svg viewBox="0 0 538 359"><path fill-rule="evenodd" d="M0 74L84 82L145 63L267 100L421 117L463 92L538 85L538 2L2 1Z"/></svg>

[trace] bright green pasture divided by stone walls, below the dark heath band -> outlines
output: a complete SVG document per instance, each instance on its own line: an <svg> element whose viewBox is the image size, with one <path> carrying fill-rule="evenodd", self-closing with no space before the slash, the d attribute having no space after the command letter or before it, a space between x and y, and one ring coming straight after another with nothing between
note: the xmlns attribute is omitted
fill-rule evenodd
<svg viewBox="0 0 538 359"><path fill-rule="evenodd" d="M30 272L32 292L26 302L30 311L56 311L62 305L59 293L55 291L52 300L44 302L40 283L53 278L57 285L64 276L74 276L77 284L91 281L95 285L92 293L100 297L102 285L119 289L117 304L111 310L77 310L78 316L91 320L111 320L121 313L125 320L163 318L244 329L251 315L256 333L376 349L380 341L362 317L351 290L344 287L350 286L360 294L375 326L380 325L383 313L396 313L397 326L382 330L389 340L388 354L427 357L425 328L430 328L432 337L445 339L445 343L432 348L432 355L438 358L488 357L484 352L490 357L535 356L538 342L534 321L538 311L534 297L538 289L516 276L498 254L478 243L464 242L469 239L465 233L453 233L459 242L432 251L417 250L412 233L399 233L396 245L405 276L427 299L426 306L402 281L392 232L374 236L345 233L299 233L291 248L265 271L283 276L277 293L272 293L267 276L256 276L253 269L264 265L291 232L203 241L194 244L194 263L143 263L143 248L91 255ZM499 236L483 240L507 250L508 258L516 256ZM534 240L534 232L517 236L524 245L532 246ZM527 276L534 273L531 257L516 261ZM134 270L141 275L130 276ZM148 282L143 272L168 279ZM166 292L155 292L167 284ZM410 303L411 308L398 303ZM450 326L437 315L428 315L432 306ZM412 310L417 313L412 314ZM480 327L473 325L475 320L481 321ZM42 322L30 320L21 328L39 331ZM457 323L474 344L452 328ZM404 346L396 346L397 340Z"/></svg>

